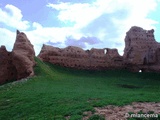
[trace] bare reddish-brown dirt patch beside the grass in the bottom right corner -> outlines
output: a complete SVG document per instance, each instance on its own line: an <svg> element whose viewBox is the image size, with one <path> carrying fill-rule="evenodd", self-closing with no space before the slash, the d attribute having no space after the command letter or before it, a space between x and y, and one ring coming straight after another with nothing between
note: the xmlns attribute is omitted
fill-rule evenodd
<svg viewBox="0 0 160 120"><path fill-rule="evenodd" d="M96 107L95 110L95 114L104 116L106 120L127 120L129 117L156 118L158 117L158 114L160 114L160 103L134 102L131 105L121 107L113 105L109 105L103 108ZM143 114L139 113L140 111ZM87 116L84 117L83 120L87 120L92 116L91 112L85 112L84 114L87 114Z"/></svg>

